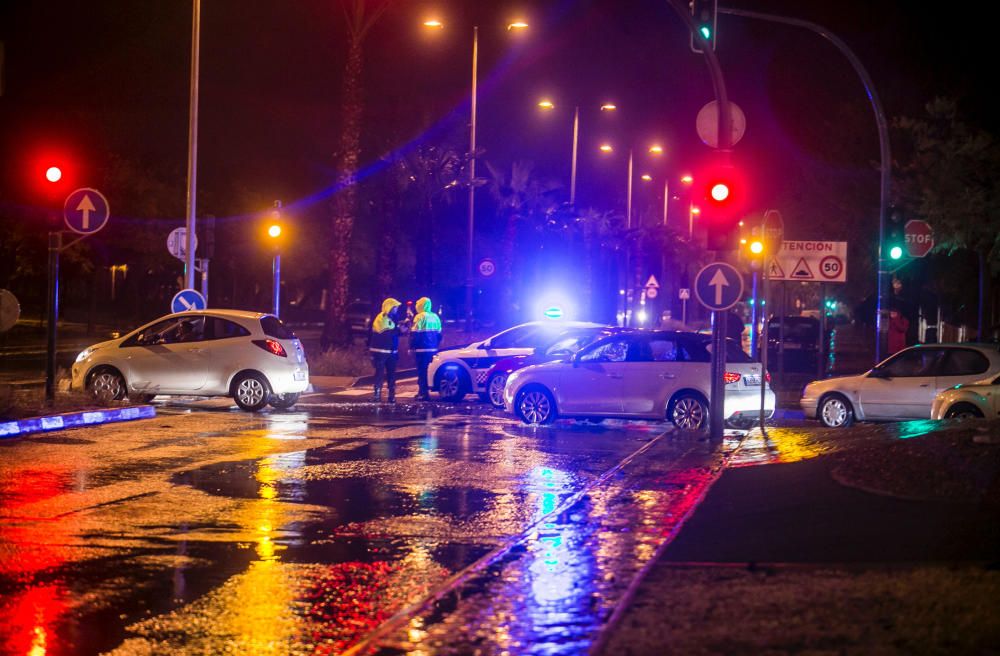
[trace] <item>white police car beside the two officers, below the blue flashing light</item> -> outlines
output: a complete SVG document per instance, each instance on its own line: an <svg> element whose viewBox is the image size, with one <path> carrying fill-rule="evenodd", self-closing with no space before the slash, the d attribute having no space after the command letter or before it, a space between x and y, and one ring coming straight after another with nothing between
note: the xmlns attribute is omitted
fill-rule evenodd
<svg viewBox="0 0 1000 656"><path fill-rule="evenodd" d="M445 401L461 401L470 392L479 394L485 401L489 399L486 376L499 360L513 355L531 355L567 328L600 327L599 323L585 321L523 323L482 342L439 351L427 368L427 380L431 389Z"/></svg>

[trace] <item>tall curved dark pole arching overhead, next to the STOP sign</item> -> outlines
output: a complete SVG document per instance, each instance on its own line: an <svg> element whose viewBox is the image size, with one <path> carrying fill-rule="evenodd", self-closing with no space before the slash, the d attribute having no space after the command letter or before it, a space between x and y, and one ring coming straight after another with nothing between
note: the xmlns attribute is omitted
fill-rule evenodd
<svg viewBox="0 0 1000 656"><path fill-rule="evenodd" d="M875 125L878 128L879 158L881 160L879 165L879 173L881 177L879 184L880 195L878 208L878 273L876 274L878 305L875 311L875 363L878 364L882 360L883 333L888 330L888 323L885 320L885 295L886 274L890 272L885 269L886 261L884 254L885 216L886 208L889 206L889 183L892 179L892 155L889 151L889 123L886 121L885 112L882 110L882 102L879 100L878 93L875 91L875 85L872 83L871 76L868 75L868 71L865 70L865 67L861 64L861 60L858 59L854 52L847 47L847 44L841 41L838 36L827 30L822 25L799 20L797 18L775 16L773 14L762 14L755 11L744 11L742 9L732 9L729 7L719 7L718 12L720 14L730 14L733 16L742 16L744 18L756 18L758 20L783 23L785 25L793 25L795 27L802 27L807 30L811 30L836 46L837 49L840 50L841 54L847 57L851 66L854 67L854 72L857 73L859 78L861 78L861 84L865 87L865 93L868 95L868 101L871 103L872 111L875 113Z"/></svg>

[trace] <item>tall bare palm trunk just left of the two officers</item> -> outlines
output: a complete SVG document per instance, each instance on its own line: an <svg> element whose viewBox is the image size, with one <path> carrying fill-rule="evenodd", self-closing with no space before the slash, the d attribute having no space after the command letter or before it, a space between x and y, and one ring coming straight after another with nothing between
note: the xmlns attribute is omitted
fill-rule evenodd
<svg viewBox="0 0 1000 656"><path fill-rule="evenodd" d="M357 170L361 159L361 121L364 96L361 89L363 45L372 26L385 13L388 0L381 3L343 0L347 20L347 60L344 64L343 108L340 148L335 156L337 191L330 202L329 288L325 346L347 344L351 332L347 325L347 302L351 266L351 237L358 213Z"/></svg>

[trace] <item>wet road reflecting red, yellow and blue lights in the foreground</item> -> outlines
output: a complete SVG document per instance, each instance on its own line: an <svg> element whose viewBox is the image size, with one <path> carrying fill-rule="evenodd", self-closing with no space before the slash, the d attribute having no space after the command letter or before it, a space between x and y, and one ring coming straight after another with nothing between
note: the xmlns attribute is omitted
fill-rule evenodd
<svg viewBox="0 0 1000 656"><path fill-rule="evenodd" d="M4 653L580 653L737 450L776 457L304 405L0 444Z"/></svg>

